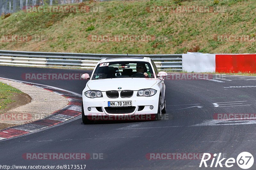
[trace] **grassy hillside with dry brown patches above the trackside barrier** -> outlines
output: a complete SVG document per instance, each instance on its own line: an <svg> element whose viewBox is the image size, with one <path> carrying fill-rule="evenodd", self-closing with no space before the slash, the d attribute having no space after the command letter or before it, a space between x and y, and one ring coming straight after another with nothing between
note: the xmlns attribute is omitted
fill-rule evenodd
<svg viewBox="0 0 256 170"><path fill-rule="evenodd" d="M76 4L78 5L78 4ZM256 42L217 41L215 34L256 35L255 0L142 0L85 3L104 12L27 13L0 19L0 35L46 35L39 42L0 42L3 50L177 54L256 53ZM224 6L220 13L155 13L149 6ZM16 16L17 15L17 16ZM92 42L90 35L154 35L149 42Z"/></svg>

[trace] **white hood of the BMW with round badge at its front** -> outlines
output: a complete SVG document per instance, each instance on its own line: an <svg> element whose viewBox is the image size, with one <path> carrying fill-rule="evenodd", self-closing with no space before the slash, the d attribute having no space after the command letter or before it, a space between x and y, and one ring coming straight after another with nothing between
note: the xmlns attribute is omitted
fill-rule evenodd
<svg viewBox="0 0 256 170"><path fill-rule="evenodd" d="M147 78L107 78L99 80L90 80L87 86L91 90L100 90L102 92L110 90L133 90L147 89L156 84L156 80ZM121 89L118 89L121 87Z"/></svg>

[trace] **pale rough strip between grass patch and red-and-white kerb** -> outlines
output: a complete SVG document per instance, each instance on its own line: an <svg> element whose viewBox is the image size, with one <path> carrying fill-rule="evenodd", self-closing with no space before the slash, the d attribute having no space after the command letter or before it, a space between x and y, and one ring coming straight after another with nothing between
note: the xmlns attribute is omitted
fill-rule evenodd
<svg viewBox="0 0 256 170"><path fill-rule="evenodd" d="M50 115L68 105L68 99L56 93L38 88L36 86L26 85L10 80L0 79L7 85L28 94L31 97L31 102L7 111L0 115L1 123L21 125L41 119Z"/></svg>

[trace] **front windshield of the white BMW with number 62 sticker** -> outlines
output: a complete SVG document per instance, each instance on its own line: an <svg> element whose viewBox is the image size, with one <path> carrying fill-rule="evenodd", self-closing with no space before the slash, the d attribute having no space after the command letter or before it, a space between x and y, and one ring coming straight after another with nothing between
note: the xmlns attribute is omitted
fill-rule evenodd
<svg viewBox="0 0 256 170"><path fill-rule="evenodd" d="M105 78L154 78L148 62L106 62L95 69L92 80Z"/></svg>

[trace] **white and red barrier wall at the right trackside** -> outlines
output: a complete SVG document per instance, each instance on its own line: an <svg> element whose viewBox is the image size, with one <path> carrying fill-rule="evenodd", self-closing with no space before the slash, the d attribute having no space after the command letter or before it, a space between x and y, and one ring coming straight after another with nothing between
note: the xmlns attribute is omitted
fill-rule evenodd
<svg viewBox="0 0 256 170"><path fill-rule="evenodd" d="M256 54L182 54L182 70L187 72L256 72Z"/></svg>

